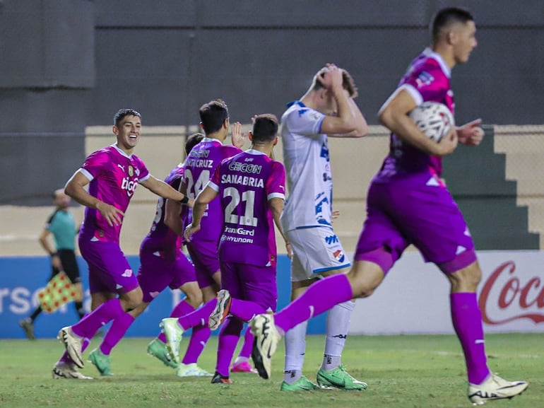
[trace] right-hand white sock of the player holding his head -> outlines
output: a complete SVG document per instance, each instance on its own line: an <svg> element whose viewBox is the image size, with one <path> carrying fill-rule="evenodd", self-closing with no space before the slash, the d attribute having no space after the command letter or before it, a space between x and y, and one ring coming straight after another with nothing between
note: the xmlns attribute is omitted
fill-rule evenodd
<svg viewBox="0 0 544 408"><path fill-rule="evenodd" d="M351 313L355 303L347 301L338 303L327 315L325 352L321 369L332 370L340 366L345 339L350 330Z"/></svg>

